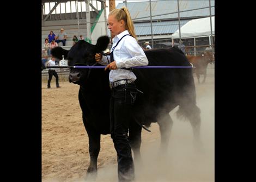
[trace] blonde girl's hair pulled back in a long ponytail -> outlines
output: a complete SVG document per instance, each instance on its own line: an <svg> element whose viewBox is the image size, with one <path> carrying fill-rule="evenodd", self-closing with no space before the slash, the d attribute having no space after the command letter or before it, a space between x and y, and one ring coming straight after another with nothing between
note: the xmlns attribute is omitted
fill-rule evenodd
<svg viewBox="0 0 256 182"><path fill-rule="evenodd" d="M126 24L125 29L128 30L128 32L133 37L135 37L136 41L138 41L137 36L134 31L134 26L133 26L130 12L128 11L128 9L126 7L123 7L121 9L113 9L111 12L109 12L109 15L113 15L115 17L115 19L117 19L117 21L124 20L124 22Z"/></svg>

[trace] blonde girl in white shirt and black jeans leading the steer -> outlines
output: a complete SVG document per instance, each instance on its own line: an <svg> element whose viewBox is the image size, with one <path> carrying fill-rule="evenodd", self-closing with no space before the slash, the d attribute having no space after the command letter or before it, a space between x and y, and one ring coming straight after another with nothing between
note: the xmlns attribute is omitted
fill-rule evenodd
<svg viewBox="0 0 256 182"><path fill-rule="evenodd" d="M128 129L132 121L132 105L137 89L135 74L129 69L134 66L147 66L148 59L137 43L133 22L127 8L114 9L108 15L108 29L114 35L111 48L111 62L101 54L95 60L109 68L111 85L110 116L111 137L118 156L119 181L134 180L134 165L128 139ZM108 59L109 59L108 58Z"/></svg>

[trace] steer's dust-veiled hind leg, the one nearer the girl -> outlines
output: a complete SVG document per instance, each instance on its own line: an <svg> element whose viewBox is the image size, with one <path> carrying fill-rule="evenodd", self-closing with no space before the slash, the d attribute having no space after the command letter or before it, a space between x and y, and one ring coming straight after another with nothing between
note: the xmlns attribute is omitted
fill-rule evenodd
<svg viewBox="0 0 256 182"><path fill-rule="evenodd" d="M157 121L161 132L161 151L166 152L170 138L170 130L172 129L173 120L168 112L161 114L160 119Z"/></svg>

